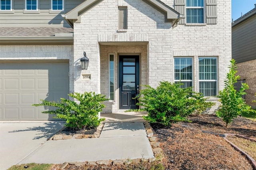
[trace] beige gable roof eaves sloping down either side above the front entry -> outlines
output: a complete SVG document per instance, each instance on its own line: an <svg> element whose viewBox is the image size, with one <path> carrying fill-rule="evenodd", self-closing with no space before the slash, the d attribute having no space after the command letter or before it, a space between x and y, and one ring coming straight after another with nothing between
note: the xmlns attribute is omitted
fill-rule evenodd
<svg viewBox="0 0 256 170"><path fill-rule="evenodd" d="M93 8L94 6L98 5L103 0L86 0L70 12L62 15L63 18L73 27L74 22L80 21L80 16ZM170 22L172 25L175 25L181 18L177 11L172 9L170 6L164 4L160 0L143 0L156 10L162 12L165 15L165 22Z"/></svg>

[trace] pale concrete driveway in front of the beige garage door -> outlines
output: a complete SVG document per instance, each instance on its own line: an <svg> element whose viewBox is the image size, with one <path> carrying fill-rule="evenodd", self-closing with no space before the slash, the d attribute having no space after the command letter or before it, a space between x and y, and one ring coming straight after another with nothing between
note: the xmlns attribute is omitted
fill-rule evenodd
<svg viewBox="0 0 256 170"><path fill-rule="evenodd" d="M63 124L64 121L0 121L0 170L21 162Z"/></svg>

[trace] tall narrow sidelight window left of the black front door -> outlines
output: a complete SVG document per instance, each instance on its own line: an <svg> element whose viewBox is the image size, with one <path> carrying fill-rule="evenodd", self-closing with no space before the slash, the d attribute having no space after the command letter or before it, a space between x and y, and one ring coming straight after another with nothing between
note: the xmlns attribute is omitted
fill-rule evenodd
<svg viewBox="0 0 256 170"><path fill-rule="evenodd" d="M109 54L109 98L115 100L114 91L114 54Z"/></svg>

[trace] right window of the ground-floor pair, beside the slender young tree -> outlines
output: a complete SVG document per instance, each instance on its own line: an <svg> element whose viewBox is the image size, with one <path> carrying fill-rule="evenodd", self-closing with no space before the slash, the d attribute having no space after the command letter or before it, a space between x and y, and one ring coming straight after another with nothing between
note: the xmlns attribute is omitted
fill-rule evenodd
<svg viewBox="0 0 256 170"><path fill-rule="evenodd" d="M203 96L217 95L217 57L198 57L199 92Z"/></svg>

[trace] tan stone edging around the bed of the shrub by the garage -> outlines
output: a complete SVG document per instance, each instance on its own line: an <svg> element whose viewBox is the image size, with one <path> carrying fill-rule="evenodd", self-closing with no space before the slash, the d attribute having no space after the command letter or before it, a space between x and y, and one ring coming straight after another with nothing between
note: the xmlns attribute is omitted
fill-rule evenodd
<svg viewBox="0 0 256 170"><path fill-rule="evenodd" d="M96 132L92 135L86 135L86 134L72 134L72 135L66 135L62 134L62 130L65 129L63 127L58 133L53 135L49 140L64 140L64 139L86 139L86 138L98 138L100 137L100 133L102 131L102 128L104 126L104 123L100 123L100 125L96 128Z"/></svg>

